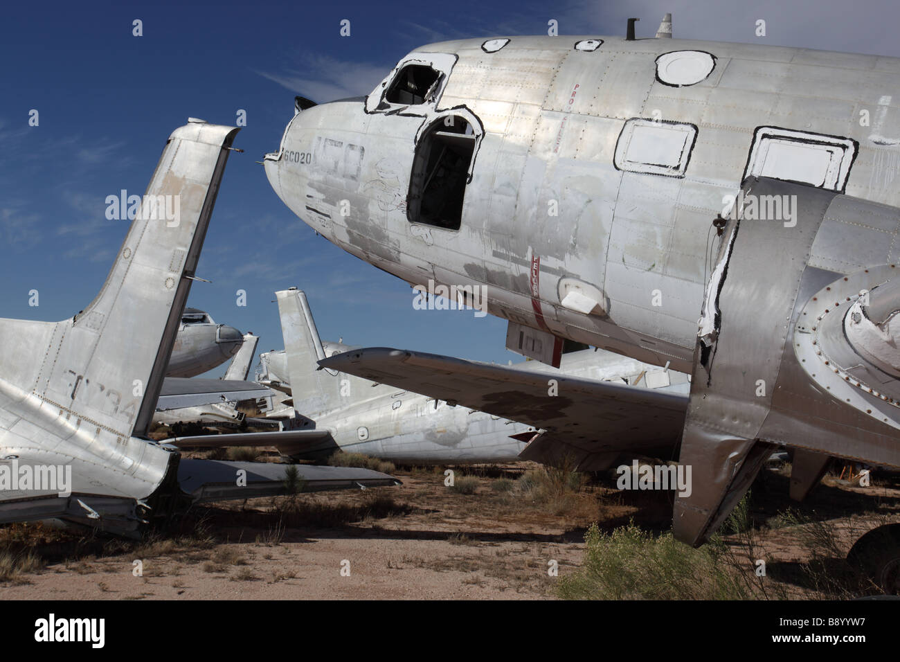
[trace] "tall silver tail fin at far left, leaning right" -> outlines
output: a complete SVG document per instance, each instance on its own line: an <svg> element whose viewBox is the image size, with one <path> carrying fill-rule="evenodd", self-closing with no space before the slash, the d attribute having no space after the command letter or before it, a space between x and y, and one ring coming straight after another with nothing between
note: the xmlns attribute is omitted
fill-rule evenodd
<svg viewBox="0 0 900 662"><path fill-rule="evenodd" d="M237 132L199 121L173 131L109 276L84 311L56 323L0 320L4 392L58 410L101 454L97 446L107 442L95 442L108 434L120 446L146 437ZM134 460L122 458L122 466Z"/></svg>

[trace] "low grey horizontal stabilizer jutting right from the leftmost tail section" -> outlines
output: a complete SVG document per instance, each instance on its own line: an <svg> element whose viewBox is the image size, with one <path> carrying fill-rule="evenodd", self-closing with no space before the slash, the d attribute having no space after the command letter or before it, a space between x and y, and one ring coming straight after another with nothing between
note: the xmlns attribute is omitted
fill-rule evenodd
<svg viewBox="0 0 900 662"><path fill-rule="evenodd" d="M178 483L193 497L194 503L276 496L291 491L285 480L287 467L296 467L301 492L401 485L393 476L356 467L185 458L178 465ZM241 471L245 473L239 474Z"/></svg>

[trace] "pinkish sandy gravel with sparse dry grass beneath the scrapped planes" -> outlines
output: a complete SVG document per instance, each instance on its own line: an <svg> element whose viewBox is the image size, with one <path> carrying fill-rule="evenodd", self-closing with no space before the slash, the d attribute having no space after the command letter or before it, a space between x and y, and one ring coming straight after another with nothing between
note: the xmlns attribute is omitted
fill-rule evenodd
<svg viewBox="0 0 900 662"><path fill-rule="evenodd" d="M446 488L440 472L399 470L404 484L397 488L302 496L313 514L289 521L284 530L272 500L214 504L200 524L216 539L207 543L202 536L170 536L126 549L101 549L101 543L76 549L57 532L20 529L18 538L38 542L42 567L5 582L0 598L546 599L554 598L558 581L548 574L548 562L555 562L559 576L572 572L581 563L591 521L612 528L635 517L658 531L668 528L670 494L590 485L564 507L528 503L515 491L500 490L503 480L498 482L521 470L492 469L479 477L475 494ZM787 479L771 480L778 485L771 494L764 491L761 503L768 508L770 501L775 513L791 503L779 494ZM896 515L900 490L882 492ZM390 497L387 508L367 512L378 494ZM832 481L815 493L813 505L842 504L834 506L833 519L840 535L860 523L865 509L854 499L870 502L871 494ZM771 558L803 558L790 529L770 531L758 542ZM140 576L135 560L142 563Z"/></svg>

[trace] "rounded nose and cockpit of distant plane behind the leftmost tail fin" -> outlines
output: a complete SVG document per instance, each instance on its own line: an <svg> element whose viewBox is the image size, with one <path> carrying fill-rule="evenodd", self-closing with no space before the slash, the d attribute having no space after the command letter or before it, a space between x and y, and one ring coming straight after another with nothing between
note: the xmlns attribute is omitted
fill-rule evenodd
<svg viewBox="0 0 900 662"><path fill-rule="evenodd" d="M237 354L243 342L244 334L234 327L217 324L197 308L185 308L166 376L202 375Z"/></svg>

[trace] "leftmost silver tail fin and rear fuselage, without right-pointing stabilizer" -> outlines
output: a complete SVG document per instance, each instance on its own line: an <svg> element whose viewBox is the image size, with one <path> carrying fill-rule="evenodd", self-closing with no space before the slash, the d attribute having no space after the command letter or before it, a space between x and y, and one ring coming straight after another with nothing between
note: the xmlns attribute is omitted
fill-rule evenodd
<svg viewBox="0 0 900 662"><path fill-rule="evenodd" d="M114 509L94 497L145 498L172 475L173 454L141 437L237 132L191 122L171 134L112 269L83 311L62 322L0 320L2 455L69 467L69 487L80 495L75 503L4 493L2 521L73 508L103 518Z"/></svg>

